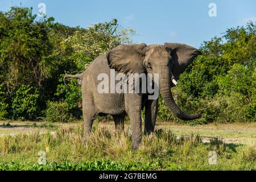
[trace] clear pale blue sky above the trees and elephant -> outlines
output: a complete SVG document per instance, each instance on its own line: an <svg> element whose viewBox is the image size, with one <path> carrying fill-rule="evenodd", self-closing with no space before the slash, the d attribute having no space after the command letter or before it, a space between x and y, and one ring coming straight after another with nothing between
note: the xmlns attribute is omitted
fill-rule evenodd
<svg viewBox="0 0 256 182"><path fill-rule="evenodd" d="M163 44L178 42L200 47L205 40L220 36L227 28L256 21L255 0L0 0L0 11L11 6L33 7L46 4L47 16L68 26L89 27L113 18L124 28L137 31L134 43ZM215 3L217 16L210 17L209 3Z"/></svg>

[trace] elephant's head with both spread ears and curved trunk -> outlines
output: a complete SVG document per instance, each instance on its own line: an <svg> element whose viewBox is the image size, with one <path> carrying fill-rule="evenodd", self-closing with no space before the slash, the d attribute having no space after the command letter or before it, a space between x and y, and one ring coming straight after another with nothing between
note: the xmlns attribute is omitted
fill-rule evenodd
<svg viewBox="0 0 256 182"><path fill-rule="evenodd" d="M183 120L201 117L201 114L187 114L176 105L171 86L185 68L200 55L200 51L191 46L178 43L164 45L131 44L120 45L106 54L109 67L121 73L159 73L159 90L164 102L172 113Z"/></svg>

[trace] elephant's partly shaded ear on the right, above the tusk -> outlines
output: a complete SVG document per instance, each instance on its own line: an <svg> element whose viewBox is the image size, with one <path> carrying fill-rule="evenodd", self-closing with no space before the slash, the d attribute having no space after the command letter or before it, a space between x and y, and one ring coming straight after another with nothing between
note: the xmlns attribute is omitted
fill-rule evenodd
<svg viewBox="0 0 256 182"><path fill-rule="evenodd" d="M201 52L191 46L179 43L164 43L165 46L172 49L172 60L174 65L172 66L172 73L176 80L179 79L181 73L185 71L189 64L198 56Z"/></svg>

